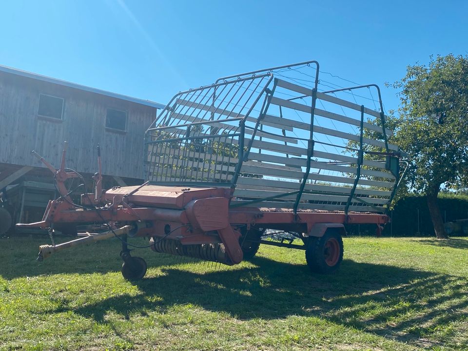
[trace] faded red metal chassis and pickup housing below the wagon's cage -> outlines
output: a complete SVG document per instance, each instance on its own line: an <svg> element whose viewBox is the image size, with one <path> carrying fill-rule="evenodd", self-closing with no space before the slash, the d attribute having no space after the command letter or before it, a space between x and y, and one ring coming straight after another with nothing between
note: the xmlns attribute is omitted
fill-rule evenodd
<svg viewBox="0 0 468 351"><path fill-rule="evenodd" d="M82 195L82 203L90 203L93 195ZM109 222L118 227L131 224L136 228L132 236L175 240L181 245L222 243L229 257L226 263L236 264L242 261L239 228L271 228L300 232L305 236L322 236L327 228L341 224L374 223L381 226L388 222L388 216L372 213L345 215L303 210L294 214L291 209L230 209L230 199L231 189L226 188L157 185L114 188L102 194L96 208L83 209L73 207L66 200L54 200L50 201L41 222L18 226L45 229L54 223Z"/></svg>

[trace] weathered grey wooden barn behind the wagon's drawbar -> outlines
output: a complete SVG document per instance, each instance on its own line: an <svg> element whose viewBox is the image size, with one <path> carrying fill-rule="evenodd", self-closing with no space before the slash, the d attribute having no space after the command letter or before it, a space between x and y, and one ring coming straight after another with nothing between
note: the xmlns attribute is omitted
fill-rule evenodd
<svg viewBox="0 0 468 351"><path fill-rule="evenodd" d="M40 220L57 195L52 173L32 150L58 168L67 141L66 166L91 182L99 144L104 186L140 184L144 132L161 108L153 101L0 66L0 234L16 222Z"/></svg>

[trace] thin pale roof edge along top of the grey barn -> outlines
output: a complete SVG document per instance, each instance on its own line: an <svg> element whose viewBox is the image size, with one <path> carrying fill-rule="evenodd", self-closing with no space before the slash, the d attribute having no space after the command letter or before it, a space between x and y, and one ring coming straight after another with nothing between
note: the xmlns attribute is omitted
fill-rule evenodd
<svg viewBox="0 0 468 351"><path fill-rule="evenodd" d="M127 101L131 101L131 102L135 102L137 104L151 106L151 107L158 108L158 109L162 109L162 108L165 107L165 105L160 104L160 103L155 102L155 101L143 100L143 99L140 99L140 98L132 98L132 97L129 97L129 96L126 96L126 95L112 93L112 92L108 92L106 90L91 88L91 87L88 87L88 86L85 86L85 85L72 83L72 82L69 82L69 81L66 81L66 80L62 80L62 79L42 76L42 75L39 75L37 73L26 72L26 71L22 71L22 70L19 70L19 69L16 69L16 68L12 68L12 67L7 67L7 66L0 65L0 72L6 72L6 73L11 73L11 74L14 74L14 75L22 76L22 77L38 79L38 80L42 80L42 81L45 81L45 82L59 84L59 85L67 86L67 87L74 88L74 89L84 90L84 91L87 91L87 92L90 92L90 93L105 95L105 96L108 96L108 97L111 97L111 98L118 98L118 99L121 99L121 100L127 100Z"/></svg>

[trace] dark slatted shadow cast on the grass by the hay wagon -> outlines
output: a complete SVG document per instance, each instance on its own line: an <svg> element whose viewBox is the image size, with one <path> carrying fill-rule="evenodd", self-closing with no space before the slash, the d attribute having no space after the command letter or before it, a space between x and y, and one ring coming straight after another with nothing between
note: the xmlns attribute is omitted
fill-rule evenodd
<svg viewBox="0 0 468 351"><path fill-rule="evenodd" d="M164 275L138 283L140 295L121 295L70 310L104 323L108 311L130 318L148 310L168 312L174 305L193 304L238 319L319 316L415 342L465 318L468 309L465 278L351 260L331 276L312 275L306 266L262 257L252 262L255 268L212 273L165 269ZM63 311L67 309L58 312Z"/></svg>

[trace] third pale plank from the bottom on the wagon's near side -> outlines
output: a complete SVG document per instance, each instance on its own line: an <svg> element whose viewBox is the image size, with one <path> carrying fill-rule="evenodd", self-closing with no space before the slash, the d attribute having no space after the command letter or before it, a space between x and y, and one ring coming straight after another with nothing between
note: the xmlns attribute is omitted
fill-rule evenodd
<svg viewBox="0 0 468 351"><path fill-rule="evenodd" d="M260 190L272 190L271 188L281 189L293 189L299 190L301 183L297 182L290 182L290 181L281 181L281 180L272 180L272 179L259 179L259 178L249 178L249 177L238 177L237 184L240 187L246 188L248 187L259 187ZM252 188L255 189L255 188ZM331 185L322 185L322 184L306 184L305 190L308 191L316 191L316 192L323 192L323 193L336 193L336 194L351 194L351 186L350 187L338 187L338 186L331 186ZM287 192L287 191L285 191ZM366 189L366 188L356 188L354 191L356 195L373 195L373 196L390 196L390 191L385 190L374 190L374 189Z"/></svg>

